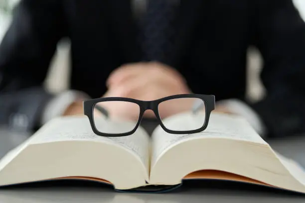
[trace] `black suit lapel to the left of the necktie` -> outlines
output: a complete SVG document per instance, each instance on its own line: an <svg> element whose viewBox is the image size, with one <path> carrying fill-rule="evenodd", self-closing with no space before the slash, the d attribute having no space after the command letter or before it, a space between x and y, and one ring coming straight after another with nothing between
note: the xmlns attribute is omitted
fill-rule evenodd
<svg viewBox="0 0 305 203"><path fill-rule="evenodd" d="M141 60L141 47L138 43L138 26L133 18L131 0L108 0L111 26L123 51L125 62Z"/></svg>

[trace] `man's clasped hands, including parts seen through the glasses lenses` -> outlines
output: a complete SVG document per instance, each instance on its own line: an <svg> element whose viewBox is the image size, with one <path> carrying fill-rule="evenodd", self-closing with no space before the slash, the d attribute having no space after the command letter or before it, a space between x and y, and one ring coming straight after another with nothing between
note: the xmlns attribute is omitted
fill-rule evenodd
<svg viewBox="0 0 305 203"><path fill-rule="evenodd" d="M157 62L128 64L116 69L108 78L108 92L104 97L126 97L150 101L170 95L189 94L184 78L173 68ZM177 103L175 106L162 105L161 117L189 108L190 103ZM129 118L138 117L138 112L129 104L108 106L112 115ZM152 111L145 116L152 117Z"/></svg>

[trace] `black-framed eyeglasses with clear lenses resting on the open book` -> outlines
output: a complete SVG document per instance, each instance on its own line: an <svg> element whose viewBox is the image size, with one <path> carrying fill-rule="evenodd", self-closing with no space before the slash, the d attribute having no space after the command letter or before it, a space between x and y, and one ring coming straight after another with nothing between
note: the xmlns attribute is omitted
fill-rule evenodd
<svg viewBox="0 0 305 203"><path fill-rule="evenodd" d="M133 115L112 116L111 110L120 106ZM89 118L93 132L105 137L120 137L133 134L139 127L144 112L151 109L164 131L171 134L201 132L208 126L210 113L215 109L213 95L173 95L154 101L130 98L99 98L84 101L84 114ZM169 111L169 116L160 116Z"/></svg>

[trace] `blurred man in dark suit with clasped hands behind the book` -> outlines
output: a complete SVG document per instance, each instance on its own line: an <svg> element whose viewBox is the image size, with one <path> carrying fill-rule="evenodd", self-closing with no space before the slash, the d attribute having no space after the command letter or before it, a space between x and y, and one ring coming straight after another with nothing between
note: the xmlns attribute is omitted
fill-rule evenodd
<svg viewBox="0 0 305 203"><path fill-rule="evenodd" d="M63 37L71 91L54 96L42 83ZM254 104L245 101L250 45L267 89ZM285 136L305 132L304 77L305 23L292 0L21 0L0 46L0 120L35 129L82 113L88 98L197 93L261 135Z"/></svg>

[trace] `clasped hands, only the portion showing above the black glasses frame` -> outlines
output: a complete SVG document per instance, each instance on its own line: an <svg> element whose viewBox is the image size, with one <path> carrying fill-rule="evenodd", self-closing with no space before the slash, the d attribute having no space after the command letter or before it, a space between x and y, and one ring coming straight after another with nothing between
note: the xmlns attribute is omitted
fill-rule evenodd
<svg viewBox="0 0 305 203"><path fill-rule="evenodd" d="M111 73L106 84L109 91L115 90L116 94L122 97L139 100L155 100L190 92L184 78L176 70L158 62L127 64L119 67ZM162 91L161 87L166 90ZM157 90L148 92L154 88Z"/></svg>

